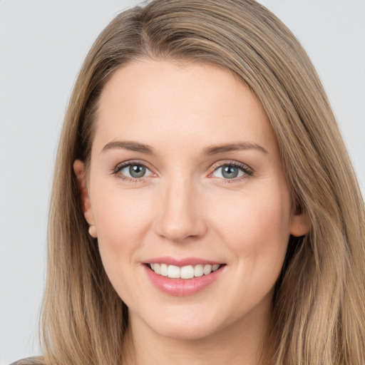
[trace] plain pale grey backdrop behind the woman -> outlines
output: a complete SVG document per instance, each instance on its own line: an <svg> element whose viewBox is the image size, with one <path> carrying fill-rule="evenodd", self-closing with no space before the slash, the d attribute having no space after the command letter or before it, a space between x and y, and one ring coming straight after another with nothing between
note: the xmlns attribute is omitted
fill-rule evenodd
<svg viewBox="0 0 365 365"><path fill-rule="evenodd" d="M316 66L365 189L365 0L262 0ZM83 58L126 0L0 0L0 364L39 354L46 223Z"/></svg>

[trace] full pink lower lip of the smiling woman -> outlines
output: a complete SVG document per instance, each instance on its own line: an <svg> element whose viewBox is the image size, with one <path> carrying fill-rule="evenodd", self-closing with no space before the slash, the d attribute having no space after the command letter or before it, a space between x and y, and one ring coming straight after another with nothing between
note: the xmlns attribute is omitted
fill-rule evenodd
<svg viewBox="0 0 365 365"><path fill-rule="evenodd" d="M220 274L222 274L225 267L221 266L217 271L203 275L202 277L193 277L192 279L170 279L170 277L163 277L162 275L156 274L147 265L143 266L145 267L148 278L157 289L175 297L185 297L200 292L202 289L205 289L208 285L215 282Z"/></svg>

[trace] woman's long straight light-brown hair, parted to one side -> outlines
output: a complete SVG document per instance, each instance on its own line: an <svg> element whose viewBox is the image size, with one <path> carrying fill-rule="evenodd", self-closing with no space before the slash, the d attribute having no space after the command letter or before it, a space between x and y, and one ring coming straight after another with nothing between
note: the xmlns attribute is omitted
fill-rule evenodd
<svg viewBox="0 0 365 365"><path fill-rule="evenodd" d="M220 66L248 86L276 135L295 207L311 222L308 235L289 242L264 364L365 364L364 201L311 61L254 0L155 0L116 16L93 44L69 102L54 172L41 361L123 360L128 312L88 235L73 162L88 168L110 76L142 58Z"/></svg>

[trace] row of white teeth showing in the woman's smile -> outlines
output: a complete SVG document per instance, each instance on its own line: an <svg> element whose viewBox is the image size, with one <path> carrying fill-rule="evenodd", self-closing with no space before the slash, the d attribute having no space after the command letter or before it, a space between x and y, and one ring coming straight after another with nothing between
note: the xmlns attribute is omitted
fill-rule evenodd
<svg viewBox="0 0 365 365"><path fill-rule="evenodd" d="M150 263L147 266L155 272L155 274L170 279L192 279L194 277L202 277L220 269L224 264L197 264L178 267L175 265Z"/></svg>

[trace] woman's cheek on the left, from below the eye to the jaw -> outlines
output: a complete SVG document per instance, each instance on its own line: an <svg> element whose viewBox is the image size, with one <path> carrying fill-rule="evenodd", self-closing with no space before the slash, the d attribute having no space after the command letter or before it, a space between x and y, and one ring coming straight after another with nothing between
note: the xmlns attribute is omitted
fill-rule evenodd
<svg viewBox="0 0 365 365"><path fill-rule="evenodd" d="M105 185L95 198L91 203L103 267L115 291L131 304L143 297L134 270L140 269L143 237L150 229L150 200L141 192L108 190Z"/></svg>

